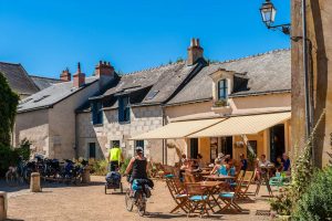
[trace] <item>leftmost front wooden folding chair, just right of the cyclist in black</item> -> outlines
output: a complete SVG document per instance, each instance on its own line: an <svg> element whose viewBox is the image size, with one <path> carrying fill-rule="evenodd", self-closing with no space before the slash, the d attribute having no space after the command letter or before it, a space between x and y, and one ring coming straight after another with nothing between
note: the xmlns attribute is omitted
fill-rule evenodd
<svg viewBox="0 0 332 221"><path fill-rule="evenodd" d="M175 212L176 210L181 209L185 213L188 213L189 207L187 206L188 202L188 194L184 193L184 189L176 183L176 178L166 178L166 185L170 192L172 198L174 199L175 203L177 204L170 213Z"/></svg>

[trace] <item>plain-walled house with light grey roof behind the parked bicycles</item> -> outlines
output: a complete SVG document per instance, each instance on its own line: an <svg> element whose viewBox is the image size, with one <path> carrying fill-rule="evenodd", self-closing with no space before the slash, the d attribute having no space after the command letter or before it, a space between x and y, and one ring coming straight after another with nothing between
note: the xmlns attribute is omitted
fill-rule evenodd
<svg viewBox="0 0 332 221"><path fill-rule="evenodd" d="M23 138L32 143L35 152L50 158L73 158L75 156L75 109L90 96L102 93L116 78L110 64L96 67L94 76L85 77L79 64L71 80L63 71L63 83L53 84L24 99L18 106L14 127L14 145Z"/></svg>

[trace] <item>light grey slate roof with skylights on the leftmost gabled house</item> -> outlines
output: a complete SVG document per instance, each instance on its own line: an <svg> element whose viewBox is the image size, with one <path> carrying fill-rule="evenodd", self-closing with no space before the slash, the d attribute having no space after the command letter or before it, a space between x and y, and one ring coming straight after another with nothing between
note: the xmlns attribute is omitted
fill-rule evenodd
<svg viewBox="0 0 332 221"><path fill-rule="evenodd" d="M98 77L91 76L85 78L85 85L77 88L73 87L73 82L63 82L53 84L45 90L42 90L24 99L18 106L18 113L48 108L61 102L62 99L71 96L72 94L87 87L89 85L98 81ZM86 97L87 98L87 97Z"/></svg>

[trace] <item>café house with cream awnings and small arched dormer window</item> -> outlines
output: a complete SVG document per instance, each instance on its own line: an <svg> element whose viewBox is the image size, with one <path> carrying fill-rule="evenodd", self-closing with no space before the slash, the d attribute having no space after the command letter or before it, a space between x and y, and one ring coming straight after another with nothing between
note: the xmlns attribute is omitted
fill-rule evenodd
<svg viewBox="0 0 332 221"><path fill-rule="evenodd" d="M289 50L209 64L165 104L166 126L133 139L166 139L168 164L249 149L274 161L291 150L290 64Z"/></svg>

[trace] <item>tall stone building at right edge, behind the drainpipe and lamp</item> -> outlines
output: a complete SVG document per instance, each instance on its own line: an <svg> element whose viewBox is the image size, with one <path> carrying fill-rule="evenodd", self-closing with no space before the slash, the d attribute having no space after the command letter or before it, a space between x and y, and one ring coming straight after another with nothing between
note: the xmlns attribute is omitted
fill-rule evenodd
<svg viewBox="0 0 332 221"><path fill-rule="evenodd" d="M303 36L302 1L291 1L292 36ZM314 144L314 162L323 167L329 162L332 136L332 2L329 0L307 1L307 32L309 57L309 84L313 112L312 127L323 109L325 117L319 125ZM303 144L305 137L305 103L302 40L292 41L292 139ZM300 145L301 146L301 145Z"/></svg>

